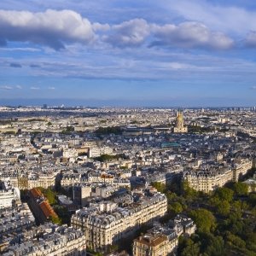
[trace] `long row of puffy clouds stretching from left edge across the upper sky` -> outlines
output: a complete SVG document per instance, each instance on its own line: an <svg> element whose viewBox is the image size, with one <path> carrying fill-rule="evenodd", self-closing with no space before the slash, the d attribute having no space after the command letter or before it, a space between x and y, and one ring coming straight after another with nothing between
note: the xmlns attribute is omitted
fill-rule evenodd
<svg viewBox="0 0 256 256"><path fill-rule="evenodd" d="M72 10L29 11L0 10L0 44L31 42L64 49L66 44L110 44L113 47L139 47L143 44L182 48L230 49L233 40L224 33L212 32L199 22L162 26L147 20L127 20L117 25L90 23Z"/></svg>

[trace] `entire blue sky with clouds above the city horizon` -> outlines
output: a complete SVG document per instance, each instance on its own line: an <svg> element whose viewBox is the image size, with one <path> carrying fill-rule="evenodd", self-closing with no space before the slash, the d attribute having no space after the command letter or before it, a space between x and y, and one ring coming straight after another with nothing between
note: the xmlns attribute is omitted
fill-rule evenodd
<svg viewBox="0 0 256 256"><path fill-rule="evenodd" d="M0 105L256 105L253 0L1 0Z"/></svg>

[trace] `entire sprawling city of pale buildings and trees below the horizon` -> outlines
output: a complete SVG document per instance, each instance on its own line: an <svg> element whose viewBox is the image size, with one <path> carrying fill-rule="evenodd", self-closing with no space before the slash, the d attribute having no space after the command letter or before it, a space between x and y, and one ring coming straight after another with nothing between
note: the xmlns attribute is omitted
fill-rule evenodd
<svg viewBox="0 0 256 256"><path fill-rule="evenodd" d="M2 107L2 255L253 255L255 113Z"/></svg>

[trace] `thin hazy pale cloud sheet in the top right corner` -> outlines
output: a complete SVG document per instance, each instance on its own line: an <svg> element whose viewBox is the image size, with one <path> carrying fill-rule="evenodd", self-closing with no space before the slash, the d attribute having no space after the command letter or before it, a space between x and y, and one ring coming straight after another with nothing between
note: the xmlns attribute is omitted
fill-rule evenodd
<svg viewBox="0 0 256 256"><path fill-rule="evenodd" d="M159 0L159 3L184 20L200 21L222 32L244 36L247 31L256 30L256 12L236 7L236 1L225 6L221 2L212 3L207 0Z"/></svg>

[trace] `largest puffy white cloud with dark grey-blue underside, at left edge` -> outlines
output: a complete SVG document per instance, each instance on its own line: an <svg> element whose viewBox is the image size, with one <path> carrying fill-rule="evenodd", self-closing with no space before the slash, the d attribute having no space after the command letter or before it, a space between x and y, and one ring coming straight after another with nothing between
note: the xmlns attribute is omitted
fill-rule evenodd
<svg viewBox="0 0 256 256"><path fill-rule="evenodd" d="M67 43L89 44L95 38L90 21L72 10L48 9L44 13L0 10L2 44L30 41L53 49Z"/></svg>

